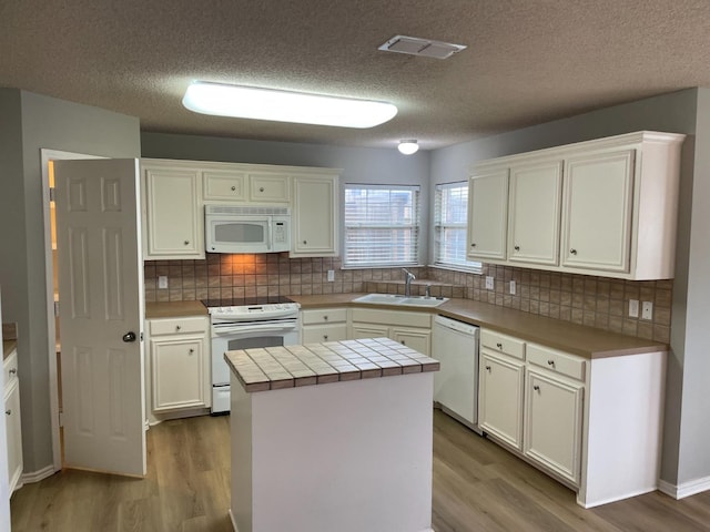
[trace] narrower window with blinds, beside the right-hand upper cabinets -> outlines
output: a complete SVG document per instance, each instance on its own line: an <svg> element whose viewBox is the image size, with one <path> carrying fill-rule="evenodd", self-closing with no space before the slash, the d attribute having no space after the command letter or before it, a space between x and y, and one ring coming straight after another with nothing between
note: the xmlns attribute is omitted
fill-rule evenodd
<svg viewBox="0 0 710 532"><path fill-rule="evenodd" d="M434 265L480 273L480 263L466 260L468 183L436 185L435 194Z"/></svg>

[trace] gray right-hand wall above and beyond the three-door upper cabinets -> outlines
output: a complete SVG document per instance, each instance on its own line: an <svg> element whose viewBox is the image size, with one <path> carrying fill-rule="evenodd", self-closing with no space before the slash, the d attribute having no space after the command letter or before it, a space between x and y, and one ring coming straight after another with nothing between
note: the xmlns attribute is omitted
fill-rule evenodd
<svg viewBox="0 0 710 532"><path fill-rule="evenodd" d="M710 329L710 154L694 151L710 135L710 91L689 89L602 109L432 152L430 186L466 180L477 161L640 130L690 135L683 143L681 208L673 282L661 478L671 484L710 477L707 393ZM698 120L698 124L696 121ZM697 134L697 137L694 136ZM693 174L697 178L693 182ZM692 219L691 219L692 216Z"/></svg>

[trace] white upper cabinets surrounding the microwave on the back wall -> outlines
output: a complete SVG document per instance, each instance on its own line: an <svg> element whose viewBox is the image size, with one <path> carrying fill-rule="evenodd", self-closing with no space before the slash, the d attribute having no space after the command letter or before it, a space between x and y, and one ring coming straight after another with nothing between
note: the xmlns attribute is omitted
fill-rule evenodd
<svg viewBox="0 0 710 532"><path fill-rule="evenodd" d="M337 256L338 174L333 168L144 158L143 258L204 258L206 204L288 206L291 256Z"/></svg>

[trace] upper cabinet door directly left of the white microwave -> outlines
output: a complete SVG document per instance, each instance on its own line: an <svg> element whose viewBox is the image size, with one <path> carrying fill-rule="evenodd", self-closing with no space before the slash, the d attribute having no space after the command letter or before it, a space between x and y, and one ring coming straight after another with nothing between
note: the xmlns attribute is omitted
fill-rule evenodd
<svg viewBox="0 0 710 532"><path fill-rule="evenodd" d="M197 170L146 166L145 259L204 258Z"/></svg>

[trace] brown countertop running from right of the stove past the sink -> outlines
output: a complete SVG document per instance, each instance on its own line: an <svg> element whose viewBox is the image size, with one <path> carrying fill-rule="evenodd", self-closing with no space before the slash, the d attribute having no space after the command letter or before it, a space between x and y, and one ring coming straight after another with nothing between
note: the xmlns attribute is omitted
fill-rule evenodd
<svg viewBox="0 0 710 532"><path fill-rule="evenodd" d="M301 308L307 309L347 305L362 295L364 294L324 294L288 297L300 303ZM589 359L667 351L669 349L668 345L658 341L595 329L498 305L474 301L473 299L449 299L434 308L372 304L353 305L367 306L369 308L424 311L434 315L440 314L448 318L494 329L526 341L534 341Z"/></svg>

